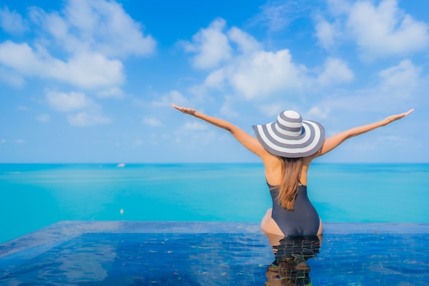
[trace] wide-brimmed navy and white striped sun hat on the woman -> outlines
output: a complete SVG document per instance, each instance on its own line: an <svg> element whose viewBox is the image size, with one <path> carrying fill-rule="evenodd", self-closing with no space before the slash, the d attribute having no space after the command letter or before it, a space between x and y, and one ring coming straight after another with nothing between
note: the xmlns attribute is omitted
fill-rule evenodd
<svg viewBox="0 0 429 286"><path fill-rule="evenodd" d="M254 126L254 132L268 152L286 158L315 154L325 140L325 129L319 122L303 121L293 110L281 112L275 122Z"/></svg>

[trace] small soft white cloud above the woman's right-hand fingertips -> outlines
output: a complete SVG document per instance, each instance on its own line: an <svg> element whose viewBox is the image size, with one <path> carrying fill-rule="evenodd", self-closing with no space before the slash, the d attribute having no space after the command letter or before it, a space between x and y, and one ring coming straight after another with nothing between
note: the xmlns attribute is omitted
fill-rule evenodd
<svg viewBox="0 0 429 286"><path fill-rule="evenodd" d="M378 73L382 91L400 97L408 97L419 86L421 69L410 60L402 60L400 64Z"/></svg>

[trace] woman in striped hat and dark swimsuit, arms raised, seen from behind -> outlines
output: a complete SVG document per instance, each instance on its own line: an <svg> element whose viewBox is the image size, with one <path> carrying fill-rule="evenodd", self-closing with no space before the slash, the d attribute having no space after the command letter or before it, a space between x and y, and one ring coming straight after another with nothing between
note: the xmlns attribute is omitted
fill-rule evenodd
<svg viewBox="0 0 429 286"><path fill-rule="evenodd" d="M262 159L265 178L273 199L262 219L265 233L280 237L321 235L323 225L307 196L307 171L313 159L322 156L346 139L363 134L406 117L413 109L382 121L352 128L325 139L320 123L303 121L295 111L280 113L277 121L254 126L256 138L228 121L197 112L192 108L171 106L181 112L228 130L248 150Z"/></svg>

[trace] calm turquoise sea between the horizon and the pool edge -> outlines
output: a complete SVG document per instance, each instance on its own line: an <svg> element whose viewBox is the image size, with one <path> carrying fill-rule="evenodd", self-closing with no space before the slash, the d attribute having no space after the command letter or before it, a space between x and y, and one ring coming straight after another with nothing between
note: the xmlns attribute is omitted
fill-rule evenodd
<svg viewBox="0 0 429 286"><path fill-rule="evenodd" d="M429 223L429 164L314 164L324 222ZM0 164L0 243L61 220L259 222L260 164Z"/></svg>

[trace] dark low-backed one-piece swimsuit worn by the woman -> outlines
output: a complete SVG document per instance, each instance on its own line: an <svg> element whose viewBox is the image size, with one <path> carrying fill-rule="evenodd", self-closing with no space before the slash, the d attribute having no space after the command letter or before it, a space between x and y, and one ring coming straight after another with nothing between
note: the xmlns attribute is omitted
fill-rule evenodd
<svg viewBox="0 0 429 286"><path fill-rule="evenodd" d="M273 200L271 218L278 224L286 237L317 235L320 219L315 207L308 200L306 186L300 185L298 187L293 211L280 206L277 200L279 186L268 184L268 187Z"/></svg>

